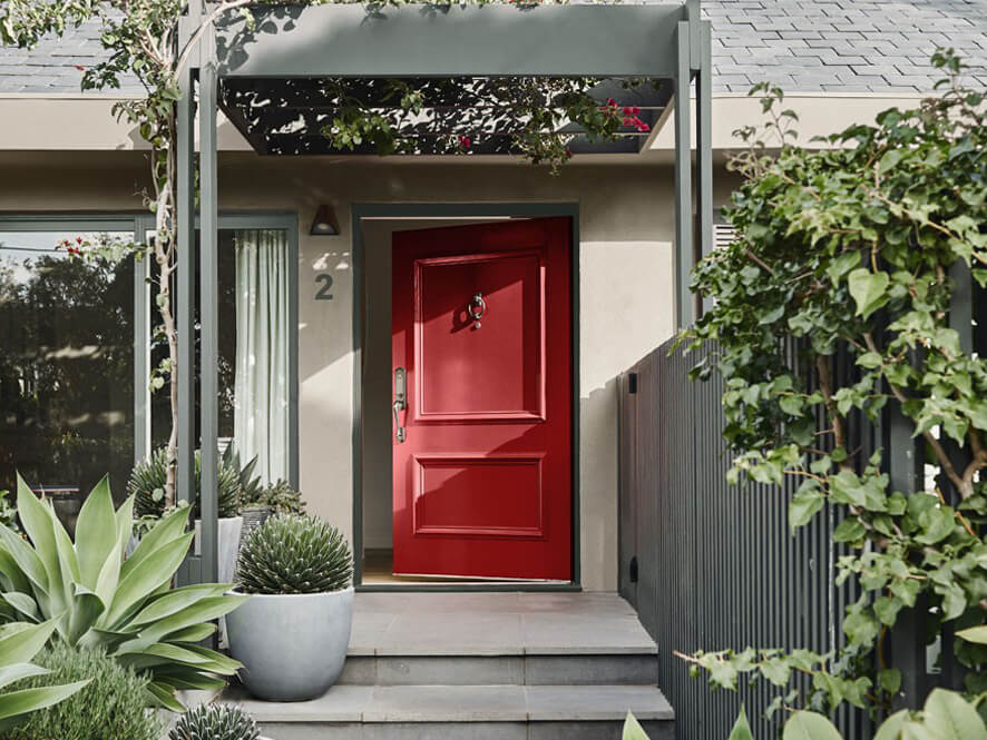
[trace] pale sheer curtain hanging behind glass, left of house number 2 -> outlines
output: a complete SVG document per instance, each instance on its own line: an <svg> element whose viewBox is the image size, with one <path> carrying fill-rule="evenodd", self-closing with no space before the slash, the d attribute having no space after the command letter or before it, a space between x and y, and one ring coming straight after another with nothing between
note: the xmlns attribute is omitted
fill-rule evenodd
<svg viewBox="0 0 987 740"><path fill-rule="evenodd" d="M234 443L266 482L287 480L287 235L236 231L236 381Z"/></svg>

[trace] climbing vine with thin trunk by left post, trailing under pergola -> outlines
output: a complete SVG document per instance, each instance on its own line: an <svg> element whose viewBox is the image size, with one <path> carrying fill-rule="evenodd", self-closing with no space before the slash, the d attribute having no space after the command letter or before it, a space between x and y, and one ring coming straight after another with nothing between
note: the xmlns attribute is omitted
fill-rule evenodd
<svg viewBox="0 0 987 740"><path fill-rule="evenodd" d="M287 0L270 4L325 4L331 1L348 0ZM462 4L489 4L492 0L470 0ZM514 0L508 0L514 2ZM404 4L405 0L388 0L384 4ZM175 474L178 434L178 334L175 322L174 302L170 294L173 276L178 266L177 251L177 119L176 103L186 91L179 86L183 71L192 62L198 43L209 28L231 14L244 17L247 27L254 28L251 6L266 4L256 0L218 0L205 3L205 17L192 30L188 38L179 38L179 20L186 13L187 0L59 0L38 2L37 0L3 0L0 2L0 43L30 48L41 39L61 36L71 28L91 22L100 29L104 58L89 68L79 68L84 90L106 90L119 88L121 80L136 79L144 95L116 103L114 114L136 127L140 136L150 145L150 172L153 187L144 194L148 209L155 214L155 234L148 245L133 244L129 249L137 257L147 257L156 267L154 275L155 302L160 324L153 341L167 345L168 354L154 368L149 385L152 391L167 386L170 401L170 434L166 445L168 475L165 487L165 503L172 505L175 499ZM369 12L382 3L368 3ZM451 8L449 0L433 3ZM521 6L516 3L519 12ZM437 85L444 85L444 95L453 101L469 100L481 105L473 106L473 117L466 120L439 120L438 134L424 132L434 138L432 147L437 154L471 154L482 149L490 139L490 130L485 128L496 118L501 125L507 148L524 155L532 164L548 165L556 171L571 157L569 142L574 125L583 135L593 139L613 139L623 128L637 134L647 132L644 122L633 106L619 105L610 99L598 102L593 89L599 80L514 79L504 83L456 81L422 81L416 85L401 80L385 80L385 98L391 97L398 105L389 112L374 108L371 100L352 95L342 80L330 80L323 90L326 99L336 100L338 112L332 120L321 124L317 130L340 149L359 149L370 145L379 154L414 154L414 137L409 131L421 134L422 111L429 101L429 93ZM626 80L624 88L643 85L643 80ZM335 97L333 97L335 96ZM496 106L497 116L490 115ZM479 111L479 115L477 115ZM486 112L485 112L486 111ZM459 115L459 114L453 114ZM448 116L448 114L447 114ZM469 116L469 114L467 114ZM449 124L455 124L451 126ZM428 126L426 126L428 129ZM565 130L564 130L565 129ZM420 137L419 137L420 138ZM99 257L105 254L119 254L120 245L80 245L72 248L71 257Z"/></svg>

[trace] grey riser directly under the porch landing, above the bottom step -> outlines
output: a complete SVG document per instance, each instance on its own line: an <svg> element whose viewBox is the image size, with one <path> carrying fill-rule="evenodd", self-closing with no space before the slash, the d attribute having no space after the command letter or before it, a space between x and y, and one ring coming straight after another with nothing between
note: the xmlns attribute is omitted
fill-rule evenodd
<svg viewBox="0 0 987 740"><path fill-rule="evenodd" d="M579 685L658 682L657 655L350 655L340 677L348 685Z"/></svg>

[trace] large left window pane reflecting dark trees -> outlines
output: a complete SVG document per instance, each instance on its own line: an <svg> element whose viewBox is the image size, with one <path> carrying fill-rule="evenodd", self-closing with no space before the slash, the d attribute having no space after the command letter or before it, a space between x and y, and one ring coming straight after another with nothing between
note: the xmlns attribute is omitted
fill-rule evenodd
<svg viewBox="0 0 987 740"><path fill-rule="evenodd" d="M68 240L133 239L118 224L0 223L0 489L119 497L134 458L134 260L70 258ZM116 230L119 229L119 230Z"/></svg>

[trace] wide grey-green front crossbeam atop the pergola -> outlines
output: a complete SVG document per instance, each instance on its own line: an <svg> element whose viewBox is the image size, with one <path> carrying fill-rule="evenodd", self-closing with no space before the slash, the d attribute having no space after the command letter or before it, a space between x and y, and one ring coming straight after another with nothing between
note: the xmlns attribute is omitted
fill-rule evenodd
<svg viewBox="0 0 987 740"><path fill-rule="evenodd" d="M218 29L221 77L675 75L681 6L273 6Z"/></svg>

